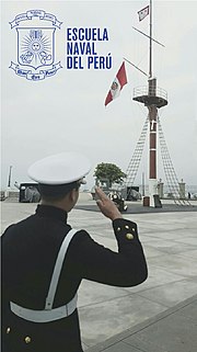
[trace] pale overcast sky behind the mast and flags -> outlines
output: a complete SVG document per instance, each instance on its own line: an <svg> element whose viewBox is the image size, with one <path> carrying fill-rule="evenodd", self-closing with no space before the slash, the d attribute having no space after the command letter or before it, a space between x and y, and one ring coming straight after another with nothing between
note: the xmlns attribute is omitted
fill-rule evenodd
<svg viewBox="0 0 197 352"><path fill-rule="evenodd" d="M128 84L106 107L104 101L123 58L148 72L149 16L139 22L138 11L149 1L1 1L2 4L2 188L8 184L9 167L14 181L30 181L26 170L39 158L65 150L81 151L92 162L88 186L94 184L99 162L116 163L126 172L148 111L132 101L134 88L147 86L147 77L126 63ZM44 10L61 21L56 29L55 63L62 68L54 77L34 82L18 76L10 63L18 64L15 27L9 22L28 10ZM158 87L167 91L169 104L159 110L165 141L178 177L197 185L197 1L153 1L153 75ZM35 19L34 19L35 20ZM35 20L36 21L36 20ZM30 26L21 21L19 26ZM47 23L46 23L47 22ZM34 23L36 26L38 23ZM39 25L51 22L39 20ZM68 27L105 27L108 41L95 42L99 56L112 55L111 69L68 69ZM86 57L82 57L85 66ZM39 70L39 69L38 69ZM148 175L148 147L141 172ZM163 177L160 162L158 179Z"/></svg>

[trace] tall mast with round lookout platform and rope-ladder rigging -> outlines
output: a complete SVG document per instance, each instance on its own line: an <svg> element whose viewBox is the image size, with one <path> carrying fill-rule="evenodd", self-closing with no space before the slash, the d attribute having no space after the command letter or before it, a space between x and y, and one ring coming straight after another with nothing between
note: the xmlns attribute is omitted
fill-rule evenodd
<svg viewBox="0 0 197 352"><path fill-rule="evenodd" d="M140 34L144 35L149 38L149 65L148 65L148 71L149 73L146 73L143 70L139 69L136 65L127 60L130 65L132 65L135 68L137 68L139 71L141 71L143 75L148 77L148 86L138 87L134 89L134 96L132 100L143 103L144 106L148 109L148 117L146 120L143 129L141 132L139 141L137 143L137 147L134 151L132 158L130 160L130 163L127 169L127 182L126 185L129 186L131 190L131 186L134 184L134 181L136 179L140 159L143 151L143 146L146 141L147 132L149 129L149 200L150 200L150 206L161 206L159 194L158 194L158 181L157 181L157 139L158 139L158 133L159 133L159 139L161 145L161 154L163 159L163 166L164 166L164 172L167 181L167 185L170 189L170 193L172 193L174 202L176 204L186 204L190 205L189 202L185 202L179 198L179 184L177 177L175 174L175 170L173 167L173 163L170 159L170 154L164 140L161 122L159 120L158 110L160 107L163 107L167 104L167 94L164 89L161 89L157 87L157 78L153 77L153 42L157 44L164 46L160 42L153 39L152 37L152 0L150 0L150 4L138 12L139 14L139 21L143 20L148 14L150 15L150 34L147 35L146 33L139 31L138 29L135 29L135 31L139 32ZM144 173L143 173L144 177ZM144 180L143 183L143 195L144 195ZM160 183L161 186L162 183ZM163 184L162 184L163 185ZM160 189L161 191L161 189ZM130 192L130 191L129 191ZM161 194L161 193L160 193ZM128 195L128 194L127 194Z"/></svg>

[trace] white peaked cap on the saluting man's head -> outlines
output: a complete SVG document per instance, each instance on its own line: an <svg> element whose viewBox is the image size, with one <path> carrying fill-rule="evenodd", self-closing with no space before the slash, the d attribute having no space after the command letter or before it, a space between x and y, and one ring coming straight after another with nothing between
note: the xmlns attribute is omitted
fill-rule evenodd
<svg viewBox="0 0 197 352"><path fill-rule="evenodd" d="M81 180L91 170L90 160L81 154L67 151L40 159L33 163L28 177L43 184L67 184Z"/></svg>

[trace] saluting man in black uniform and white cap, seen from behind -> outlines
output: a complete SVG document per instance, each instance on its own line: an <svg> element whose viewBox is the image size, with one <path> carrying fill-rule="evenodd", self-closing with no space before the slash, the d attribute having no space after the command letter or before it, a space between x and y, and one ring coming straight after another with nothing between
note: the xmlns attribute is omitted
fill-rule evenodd
<svg viewBox="0 0 197 352"><path fill-rule="evenodd" d="M147 279L137 225L124 219L101 189L97 205L112 220L118 252L69 225L89 171L89 160L76 152L47 157L28 169L42 201L34 215L2 235L2 352L81 352L77 292L82 279L123 287Z"/></svg>

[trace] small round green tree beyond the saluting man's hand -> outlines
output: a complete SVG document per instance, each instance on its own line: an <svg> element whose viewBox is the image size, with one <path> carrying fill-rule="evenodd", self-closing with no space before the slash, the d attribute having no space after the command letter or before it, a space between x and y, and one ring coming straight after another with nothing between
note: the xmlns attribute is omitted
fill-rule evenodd
<svg viewBox="0 0 197 352"><path fill-rule="evenodd" d="M121 183L126 174L115 163L101 162L94 170L94 177L99 181L107 179L111 188L114 182Z"/></svg>

